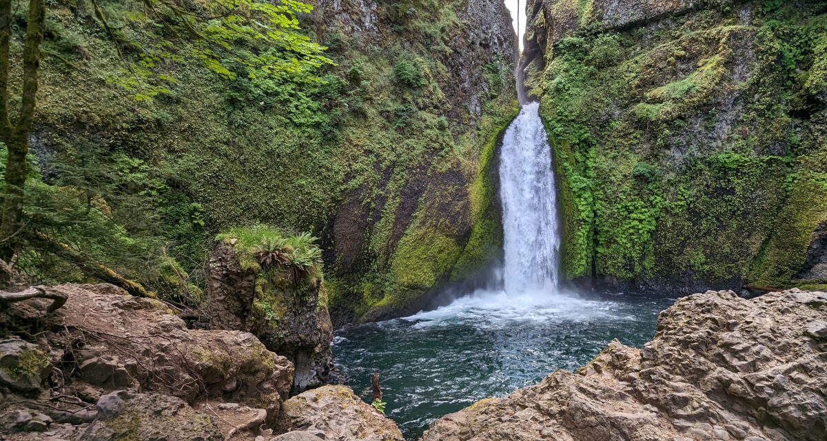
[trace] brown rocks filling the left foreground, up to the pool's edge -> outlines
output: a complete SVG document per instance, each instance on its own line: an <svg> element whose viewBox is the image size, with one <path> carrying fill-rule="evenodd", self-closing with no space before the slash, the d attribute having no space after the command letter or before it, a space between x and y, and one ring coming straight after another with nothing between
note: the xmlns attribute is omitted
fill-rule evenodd
<svg viewBox="0 0 827 441"><path fill-rule="evenodd" d="M0 440L402 441L345 386L290 397L294 362L239 330L190 329L112 285L0 305Z"/></svg>

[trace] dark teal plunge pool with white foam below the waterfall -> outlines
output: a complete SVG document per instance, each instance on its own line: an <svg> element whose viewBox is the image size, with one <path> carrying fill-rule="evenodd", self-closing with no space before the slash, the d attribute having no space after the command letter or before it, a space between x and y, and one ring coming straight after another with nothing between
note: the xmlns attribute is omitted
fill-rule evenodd
<svg viewBox="0 0 827 441"><path fill-rule="evenodd" d="M347 385L370 399L379 371L386 415L407 439L434 419L504 396L557 369L575 370L613 338L641 346L674 300L606 295L477 293L434 311L337 332Z"/></svg>

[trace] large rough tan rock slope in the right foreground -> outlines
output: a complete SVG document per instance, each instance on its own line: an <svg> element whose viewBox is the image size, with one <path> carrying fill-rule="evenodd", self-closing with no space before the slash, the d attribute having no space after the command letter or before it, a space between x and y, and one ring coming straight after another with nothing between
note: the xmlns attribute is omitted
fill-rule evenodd
<svg viewBox="0 0 827 441"><path fill-rule="evenodd" d="M827 294L691 295L643 349L613 341L579 371L437 420L423 440L820 440Z"/></svg>

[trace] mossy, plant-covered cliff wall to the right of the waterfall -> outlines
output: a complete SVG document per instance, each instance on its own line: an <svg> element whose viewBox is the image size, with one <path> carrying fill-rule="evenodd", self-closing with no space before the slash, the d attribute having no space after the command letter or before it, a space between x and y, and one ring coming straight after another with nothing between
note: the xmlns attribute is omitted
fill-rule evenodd
<svg viewBox="0 0 827 441"><path fill-rule="evenodd" d="M825 283L825 2L528 2L581 285Z"/></svg>

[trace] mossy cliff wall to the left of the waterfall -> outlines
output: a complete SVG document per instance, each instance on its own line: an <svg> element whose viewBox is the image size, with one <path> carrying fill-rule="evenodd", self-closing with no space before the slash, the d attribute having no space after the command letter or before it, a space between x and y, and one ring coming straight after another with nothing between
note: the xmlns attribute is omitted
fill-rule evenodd
<svg viewBox="0 0 827 441"><path fill-rule="evenodd" d="M198 286L218 232L253 223L313 232L336 322L412 311L435 286L473 279L498 258L490 165L516 112L503 3L311 3L299 26L337 63L313 73L320 81L230 80L198 60L158 61L151 70L170 87L150 100L113 85L123 68L93 7L50 7L37 179L98 201L93 209L122 231L106 247L100 234L72 237L74 247L174 297L160 265L123 256L163 254L177 261L173 276ZM99 6L136 45L151 33L141 2ZM22 265L82 279L60 261Z"/></svg>

